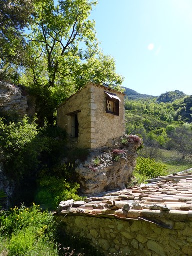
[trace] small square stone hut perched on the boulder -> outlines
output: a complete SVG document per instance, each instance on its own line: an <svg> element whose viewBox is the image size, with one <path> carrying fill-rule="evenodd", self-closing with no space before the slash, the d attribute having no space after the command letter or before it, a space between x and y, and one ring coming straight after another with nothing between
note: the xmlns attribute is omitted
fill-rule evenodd
<svg viewBox="0 0 192 256"><path fill-rule="evenodd" d="M125 134L124 94L88 83L57 108L58 126L77 147L97 148Z"/></svg>

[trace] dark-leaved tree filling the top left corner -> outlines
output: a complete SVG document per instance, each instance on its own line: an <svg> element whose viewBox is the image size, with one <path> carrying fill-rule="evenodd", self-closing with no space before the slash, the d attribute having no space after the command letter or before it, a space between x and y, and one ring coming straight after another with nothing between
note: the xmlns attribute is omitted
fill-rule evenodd
<svg viewBox="0 0 192 256"><path fill-rule="evenodd" d="M35 0L36 1L36 0ZM22 31L32 21L32 0L0 0L0 78L26 63ZM13 70L14 69L14 70Z"/></svg>

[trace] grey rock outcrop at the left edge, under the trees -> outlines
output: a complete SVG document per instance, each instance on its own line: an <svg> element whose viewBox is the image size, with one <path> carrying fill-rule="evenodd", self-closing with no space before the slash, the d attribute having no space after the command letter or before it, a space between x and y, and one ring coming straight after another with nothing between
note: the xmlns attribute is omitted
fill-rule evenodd
<svg viewBox="0 0 192 256"><path fill-rule="evenodd" d="M27 97L16 85L0 81L0 112L3 114L16 114L20 118L26 114L28 108Z"/></svg>

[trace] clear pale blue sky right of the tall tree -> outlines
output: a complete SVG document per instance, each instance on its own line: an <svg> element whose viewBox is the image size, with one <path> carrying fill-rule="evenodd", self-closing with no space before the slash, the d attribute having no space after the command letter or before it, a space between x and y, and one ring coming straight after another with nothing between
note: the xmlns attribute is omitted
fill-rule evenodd
<svg viewBox="0 0 192 256"><path fill-rule="evenodd" d="M98 0L91 18L123 86L192 95L192 0Z"/></svg>

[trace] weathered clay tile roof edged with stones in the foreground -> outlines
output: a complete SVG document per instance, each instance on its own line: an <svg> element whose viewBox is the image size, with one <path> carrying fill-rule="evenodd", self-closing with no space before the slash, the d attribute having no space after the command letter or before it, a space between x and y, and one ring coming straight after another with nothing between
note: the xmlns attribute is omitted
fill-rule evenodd
<svg viewBox="0 0 192 256"><path fill-rule="evenodd" d="M160 181L86 198L85 201L61 202L58 211L64 215L142 219L156 224L159 219L192 221L192 172L161 177Z"/></svg>

